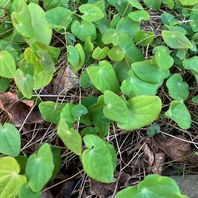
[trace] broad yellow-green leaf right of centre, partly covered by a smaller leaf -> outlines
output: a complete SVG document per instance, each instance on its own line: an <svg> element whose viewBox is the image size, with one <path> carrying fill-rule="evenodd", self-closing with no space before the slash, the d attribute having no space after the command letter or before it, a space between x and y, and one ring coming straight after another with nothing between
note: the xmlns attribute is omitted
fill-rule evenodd
<svg viewBox="0 0 198 198"><path fill-rule="evenodd" d="M162 102L158 96L136 96L128 100L128 123L118 123L118 127L135 130L154 122L162 109Z"/></svg>

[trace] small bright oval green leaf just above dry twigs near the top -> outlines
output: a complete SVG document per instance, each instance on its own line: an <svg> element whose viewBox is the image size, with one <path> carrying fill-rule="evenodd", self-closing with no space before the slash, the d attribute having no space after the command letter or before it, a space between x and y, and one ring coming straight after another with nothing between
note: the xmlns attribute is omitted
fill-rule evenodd
<svg viewBox="0 0 198 198"><path fill-rule="evenodd" d="M150 15L147 11L144 10L136 10L133 12L130 12L128 14L128 17L136 22L141 22L141 21L148 21L150 19Z"/></svg>

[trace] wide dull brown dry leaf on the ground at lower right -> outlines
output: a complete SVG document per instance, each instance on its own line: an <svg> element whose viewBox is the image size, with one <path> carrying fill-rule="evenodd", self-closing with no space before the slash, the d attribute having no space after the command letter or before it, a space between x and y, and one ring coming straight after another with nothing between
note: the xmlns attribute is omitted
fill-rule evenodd
<svg viewBox="0 0 198 198"><path fill-rule="evenodd" d="M153 140L156 147L164 151L164 153L175 161L185 161L186 157L191 153L190 143L186 142L185 137L178 135L172 137L158 136ZM182 139L184 141L182 141Z"/></svg>

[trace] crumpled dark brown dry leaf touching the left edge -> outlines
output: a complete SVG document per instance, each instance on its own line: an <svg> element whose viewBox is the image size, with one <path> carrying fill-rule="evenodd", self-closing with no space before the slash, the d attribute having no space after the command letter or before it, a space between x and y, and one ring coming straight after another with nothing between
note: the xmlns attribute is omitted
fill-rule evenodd
<svg viewBox="0 0 198 198"><path fill-rule="evenodd" d="M41 123L43 121L39 111L32 110L33 105L33 100L20 100L14 93L0 93L0 109L8 114L17 127L20 127L24 121L25 124Z"/></svg>

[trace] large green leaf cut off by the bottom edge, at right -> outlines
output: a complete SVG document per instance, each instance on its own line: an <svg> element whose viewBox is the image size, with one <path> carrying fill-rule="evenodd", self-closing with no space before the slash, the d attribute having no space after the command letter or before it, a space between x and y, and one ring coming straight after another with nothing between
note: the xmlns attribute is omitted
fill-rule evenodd
<svg viewBox="0 0 198 198"><path fill-rule="evenodd" d="M176 182L170 177L148 175L136 186L118 192L115 198L188 198L181 195Z"/></svg>

